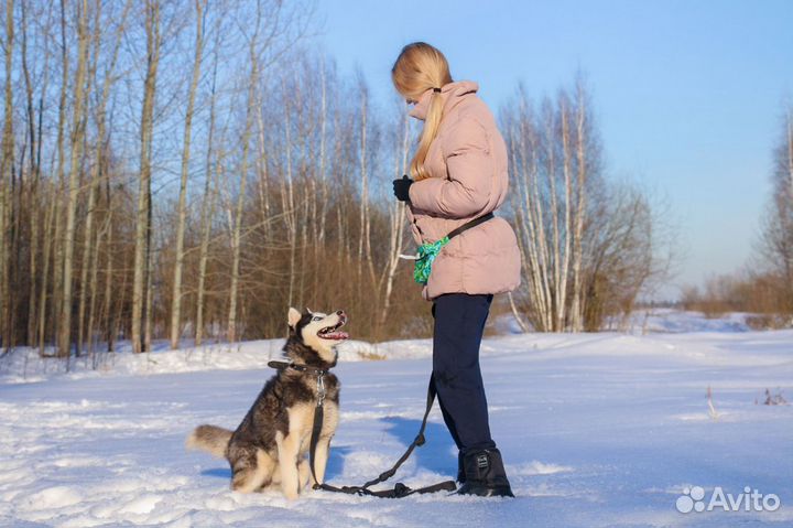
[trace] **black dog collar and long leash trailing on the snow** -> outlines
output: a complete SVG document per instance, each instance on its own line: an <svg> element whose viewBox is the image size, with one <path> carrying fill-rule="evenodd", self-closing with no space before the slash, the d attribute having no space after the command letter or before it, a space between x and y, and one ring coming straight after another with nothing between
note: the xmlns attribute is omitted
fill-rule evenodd
<svg viewBox="0 0 793 528"><path fill-rule="evenodd" d="M390 470L383 472L374 479L371 479L363 484L362 486L341 486L336 487L332 486L330 484L318 484L318 479L316 477L316 473L314 471L314 457L316 453L316 446L317 442L319 441L319 434L322 433L322 427L323 427L323 420L325 416L325 375L327 375L326 369L309 367L306 365L297 365L294 363L285 363L285 362L270 362L268 363L268 366L275 368L278 370L285 370L285 369L293 369L297 370L300 373L311 374L313 376L316 376L317 378L317 405L314 408L314 424L312 427L312 438L311 438L311 445L308 450L308 463L311 464L311 471L312 476L314 477L314 489L324 489L326 492L334 492L334 493L346 493L348 495L371 495L373 497L383 497L383 498L402 498L406 497L408 495L413 495L414 493L424 494L424 493L435 493L435 492L455 492L457 489L457 485L454 481L445 481L441 482L438 484L433 484L432 486L425 486L420 487L416 489L413 489L411 487L405 486L401 482L397 483L393 487L393 489L369 489L371 486L376 484L380 484L382 482L388 481L391 478L394 473L397 473L397 470L404 464L404 462L410 459L410 455L413 453L413 450L417 446L424 445L425 439L424 439L424 430L426 429L426 421L427 417L430 416L430 411L432 410L433 403L435 403L435 384L433 382L432 377L430 378L430 386L427 388L427 402L426 402L426 409L424 410L424 419L422 420L421 428L419 429L419 434L416 435L415 440L410 444L408 448L408 451L404 452L402 456L397 461L397 463L391 467Z"/></svg>

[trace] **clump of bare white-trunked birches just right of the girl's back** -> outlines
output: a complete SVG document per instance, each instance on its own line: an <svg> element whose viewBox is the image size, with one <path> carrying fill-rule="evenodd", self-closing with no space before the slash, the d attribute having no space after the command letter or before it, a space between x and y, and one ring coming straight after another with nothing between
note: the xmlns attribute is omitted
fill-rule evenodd
<svg viewBox="0 0 793 528"><path fill-rule="evenodd" d="M525 279L510 304L524 330L598 330L669 269L651 202L604 177L590 107L578 74L574 97L560 90L534 112L521 88L502 108Z"/></svg>

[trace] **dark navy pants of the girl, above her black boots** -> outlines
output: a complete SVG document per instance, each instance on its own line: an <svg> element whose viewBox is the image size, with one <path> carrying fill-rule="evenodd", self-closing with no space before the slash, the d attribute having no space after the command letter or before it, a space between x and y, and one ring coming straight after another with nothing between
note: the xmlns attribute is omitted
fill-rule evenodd
<svg viewBox="0 0 793 528"><path fill-rule="evenodd" d="M447 293L435 299L433 380L446 427L457 448L493 449L487 398L479 370L479 345L492 295Z"/></svg>

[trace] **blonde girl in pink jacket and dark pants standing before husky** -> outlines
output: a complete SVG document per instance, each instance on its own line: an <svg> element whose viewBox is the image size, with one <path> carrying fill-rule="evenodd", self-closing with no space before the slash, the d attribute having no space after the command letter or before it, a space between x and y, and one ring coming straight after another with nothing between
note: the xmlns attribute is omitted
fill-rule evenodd
<svg viewBox="0 0 793 528"><path fill-rule="evenodd" d="M449 236L432 263L423 297L433 302L433 382L459 450L464 495L509 496L501 453L490 437L479 345L495 293L520 284L512 227L493 217L507 196L507 148L478 85L454 82L446 57L430 44L402 49L391 69L397 91L424 121L410 175L394 180L409 203L417 244ZM443 244L443 243L442 243Z"/></svg>

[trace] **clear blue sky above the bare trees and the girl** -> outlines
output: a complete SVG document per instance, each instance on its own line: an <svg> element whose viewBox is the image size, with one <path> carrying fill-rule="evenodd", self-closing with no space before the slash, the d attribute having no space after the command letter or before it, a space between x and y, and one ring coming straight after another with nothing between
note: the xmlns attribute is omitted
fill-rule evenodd
<svg viewBox="0 0 793 528"><path fill-rule="evenodd" d="M583 68L607 170L669 205L674 284L745 265L770 193L781 105L793 99L793 1L319 1L319 42L374 97L423 40L496 110L523 82L540 98ZM667 288L666 292L673 292Z"/></svg>

